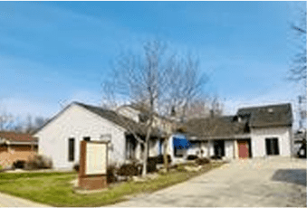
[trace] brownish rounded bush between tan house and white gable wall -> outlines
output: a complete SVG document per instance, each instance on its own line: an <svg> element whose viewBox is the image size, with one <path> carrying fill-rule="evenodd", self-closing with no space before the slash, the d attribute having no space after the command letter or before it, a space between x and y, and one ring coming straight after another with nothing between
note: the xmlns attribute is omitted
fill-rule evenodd
<svg viewBox="0 0 307 208"><path fill-rule="evenodd" d="M41 155L31 156L24 166L24 168L28 170L47 169L52 167L53 161L50 158Z"/></svg>

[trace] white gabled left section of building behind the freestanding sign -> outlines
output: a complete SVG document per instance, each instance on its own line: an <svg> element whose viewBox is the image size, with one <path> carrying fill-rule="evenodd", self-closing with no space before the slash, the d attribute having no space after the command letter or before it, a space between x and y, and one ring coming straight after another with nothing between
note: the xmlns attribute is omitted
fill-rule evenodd
<svg viewBox="0 0 307 208"><path fill-rule="evenodd" d="M50 156L54 168L71 169L79 163L82 140L110 141L110 164L142 159L144 147L135 139L135 134L145 139L145 124L112 110L72 102L34 136L39 138L39 153ZM151 156L157 155L160 137L158 129L154 128L149 142Z"/></svg>

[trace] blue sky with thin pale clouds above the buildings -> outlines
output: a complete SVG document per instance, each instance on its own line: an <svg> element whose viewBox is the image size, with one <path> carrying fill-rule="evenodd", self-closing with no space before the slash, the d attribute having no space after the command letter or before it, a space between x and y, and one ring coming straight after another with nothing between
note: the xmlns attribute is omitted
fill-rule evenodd
<svg viewBox="0 0 307 208"><path fill-rule="evenodd" d="M239 107L292 102L287 2L0 1L0 103L16 116L50 117L79 100L99 105L121 49L158 37L212 74L206 90ZM289 41L290 40L290 41Z"/></svg>

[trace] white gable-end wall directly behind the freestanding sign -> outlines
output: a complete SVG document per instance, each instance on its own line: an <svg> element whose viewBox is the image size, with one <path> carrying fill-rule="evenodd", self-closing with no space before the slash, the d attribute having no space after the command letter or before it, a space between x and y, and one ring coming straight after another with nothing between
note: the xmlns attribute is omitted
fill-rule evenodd
<svg viewBox="0 0 307 208"><path fill-rule="evenodd" d="M50 156L54 168L71 169L80 160L80 142L83 137L100 140L101 136L110 135L109 164L125 160L124 129L109 120L91 113L78 105L72 104L58 118L37 132L39 154ZM74 161L68 160L69 138L75 139Z"/></svg>

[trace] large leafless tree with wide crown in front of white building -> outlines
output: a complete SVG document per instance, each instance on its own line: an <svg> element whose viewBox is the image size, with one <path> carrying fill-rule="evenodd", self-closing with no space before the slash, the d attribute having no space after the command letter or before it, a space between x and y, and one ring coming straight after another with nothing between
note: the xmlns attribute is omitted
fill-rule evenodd
<svg viewBox="0 0 307 208"><path fill-rule="evenodd" d="M131 132L144 145L142 175L146 175L154 116L169 116L171 109L183 109L185 115L189 103L202 94L206 77L200 73L198 61L191 56L179 58L175 53L168 52L164 43L147 42L143 50L140 55L131 52L120 55L112 66L110 79L105 80L102 86L104 94L112 99L112 105L119 102L142 103L147 107L145 140L133 130ZM171 133L168 131L168 136Z"/></svg>

